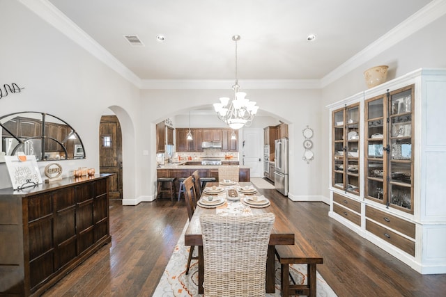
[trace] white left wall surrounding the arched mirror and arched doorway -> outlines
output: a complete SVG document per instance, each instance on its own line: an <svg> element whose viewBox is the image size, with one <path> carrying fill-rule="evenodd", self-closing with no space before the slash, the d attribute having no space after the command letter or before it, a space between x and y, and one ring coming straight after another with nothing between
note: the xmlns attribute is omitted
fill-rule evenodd
<svg viewBox="0 0 446 297"><path fill-rule="evenodd" d="M0 85L24 87L21 93L0 99L0 114L42 111L66 120L82 138L86 159L60 161L63 176L79 166L98 172L102 111L115 106L115 113L124 117L121 125L137 135L139 90L18 1L0 1L0 11ZM132 159L135 142L130 141L123 150L124 159ZM47 163L38 163L41 172ZM128 197L139 195L134 182L137 169L134 161L126 162ZM1 163L0 188L9 186L6 165Z"/></svg>

